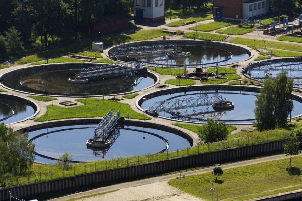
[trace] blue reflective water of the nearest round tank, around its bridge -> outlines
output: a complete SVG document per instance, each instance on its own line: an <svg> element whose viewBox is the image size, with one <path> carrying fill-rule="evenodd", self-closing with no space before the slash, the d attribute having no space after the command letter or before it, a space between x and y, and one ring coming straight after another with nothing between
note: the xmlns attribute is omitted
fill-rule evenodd
<svg viewBox="0 0 302 201"><path fill-rule="evenodd" d="M55 163L65 151L72 154L75 162L87 162L133 155L154 155L167 150L186 149L192 145L189 137L179 133L169 132L158 126L137 126L125 122L120 123L115 129L118 132L114 133L112 138L116 139L109 147L88 147L85 141L93 136L93 130L97 125L56 125L37 130L27 128L29 138L36 144L36 161Z"/></svg>

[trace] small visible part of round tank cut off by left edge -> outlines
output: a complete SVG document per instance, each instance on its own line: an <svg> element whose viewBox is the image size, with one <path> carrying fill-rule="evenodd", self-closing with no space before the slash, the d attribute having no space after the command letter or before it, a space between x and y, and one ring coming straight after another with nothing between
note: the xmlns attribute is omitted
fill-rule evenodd
<svg viewBox="0 0 302 201"><path fill-rule="evenodd" d="M10 124L25 121L35 116L39 106L19 96L0 94L0 123Z"/></svg>

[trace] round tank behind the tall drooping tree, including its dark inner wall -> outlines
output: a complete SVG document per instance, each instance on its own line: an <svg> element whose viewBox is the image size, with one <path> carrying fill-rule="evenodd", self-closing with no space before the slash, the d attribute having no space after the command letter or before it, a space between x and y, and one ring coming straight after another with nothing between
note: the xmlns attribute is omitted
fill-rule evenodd
<svg viewBox="0 0 302 201"><path fill-rule="evenodd" d="M161 90L144 95L137 100L137 106L145 105L146 112L161 118L168 118L174 121L206 123L206 119L212 118L227 124L251 124L255 121L254 108L256 94L259 87L248 86L190 86ZM200 106L178 107L183 103L190 104L196 100L205 99L213 95L221 96L221 106L214 106L209 103ZM146 98L145 101L143 98ZM169 103L174 101L177 107L170 107ZM302 98L293 94L294 110L292 117L302 114ZM172 104L173 105L173 104ZM171 105L171 106L172 106ZM154 110L154 108L168 108L167 110Z"/></svg>

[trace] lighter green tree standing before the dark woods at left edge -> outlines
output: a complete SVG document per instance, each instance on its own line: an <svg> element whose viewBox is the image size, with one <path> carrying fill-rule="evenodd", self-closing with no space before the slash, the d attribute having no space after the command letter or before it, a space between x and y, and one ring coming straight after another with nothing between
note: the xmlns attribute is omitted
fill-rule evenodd
<svg viewBox="0 0 302 201"><path fill-rule="evenodd" d="M21 40L20 34L21 33L17 31L14 26L9 28L8 31L5 32L6 40L8 42L8 49L13 54L15 52L18 52L18 50L23 49L23 44L20 41Z"/></svg>

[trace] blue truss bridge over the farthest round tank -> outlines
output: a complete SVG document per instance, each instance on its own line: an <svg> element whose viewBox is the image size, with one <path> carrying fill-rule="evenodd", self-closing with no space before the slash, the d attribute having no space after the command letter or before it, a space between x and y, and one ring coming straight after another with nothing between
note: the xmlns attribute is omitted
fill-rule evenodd
<svg viewBox="0 0 302 201"><path fill-rule="evenodd" d="M155 46L143 46L143 47L125 47L118 48L115 51L111 52L111 55L114 55L115 58L120 57L134 57L140 55L149 55L149 54L164 54L170 52L176 52L179 48L177 45L155 45Z"/></svg>

